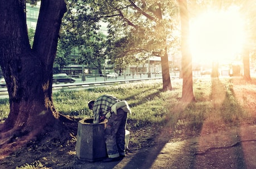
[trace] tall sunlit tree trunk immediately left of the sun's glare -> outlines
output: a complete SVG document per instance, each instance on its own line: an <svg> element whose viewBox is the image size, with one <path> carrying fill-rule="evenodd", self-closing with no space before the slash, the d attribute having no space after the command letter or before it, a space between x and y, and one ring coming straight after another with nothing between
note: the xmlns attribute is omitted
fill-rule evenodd
<svg viewBox="0 0 256 169"><path fill-rule="evenodd" d="M193 74L192 58L189 52L188 35L189 35L189 17L186 1L179 0L180 19L181 19L181 65L183 74L182 98L184 102L195 100L193 93Z"/></svg>

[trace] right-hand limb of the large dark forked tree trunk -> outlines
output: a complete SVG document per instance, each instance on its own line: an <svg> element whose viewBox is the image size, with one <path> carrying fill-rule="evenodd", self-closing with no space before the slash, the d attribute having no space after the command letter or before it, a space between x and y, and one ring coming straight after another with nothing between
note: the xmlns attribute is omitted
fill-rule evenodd
<svg viewBox="0 0 256 169"><path fill-rule="evenodd" d="M64 0L41 1L33 50L45 62L45 70L52 69L57 50L61 19L65 12L66 4Z"/></svg>

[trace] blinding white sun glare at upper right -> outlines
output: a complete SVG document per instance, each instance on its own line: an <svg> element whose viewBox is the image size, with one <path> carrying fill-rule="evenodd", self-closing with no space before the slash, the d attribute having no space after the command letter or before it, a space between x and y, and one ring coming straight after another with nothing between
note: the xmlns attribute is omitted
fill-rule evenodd
<svg viewBox="0 0 256 169"><path fill-rule="evenodd" d="M230 60L242 51L244 19L237 8L208 11L190 23L190 51L194 62Z"/></svg>

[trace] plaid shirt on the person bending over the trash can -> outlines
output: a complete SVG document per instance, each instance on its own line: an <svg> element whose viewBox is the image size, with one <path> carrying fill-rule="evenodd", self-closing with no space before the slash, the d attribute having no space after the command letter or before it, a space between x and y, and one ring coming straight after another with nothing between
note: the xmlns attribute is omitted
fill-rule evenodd
<svg viewBox="0 0 256 169"><path fill-rule="evenodd" d="M106 115L107 112L111 111L112 105L120 101L119 99L115 98L111 95L102 95L95 100L93 105L93 124L100 123L100 116Z"/></svg>

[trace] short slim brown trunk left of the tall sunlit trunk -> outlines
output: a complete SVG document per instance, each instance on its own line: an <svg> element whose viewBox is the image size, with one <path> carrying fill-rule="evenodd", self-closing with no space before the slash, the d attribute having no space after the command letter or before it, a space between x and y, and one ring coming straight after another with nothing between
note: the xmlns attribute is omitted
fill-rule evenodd
<svg viewBox="0 0 256 169"><path fill-rule="evenodd" d="M169 71L169 60L167 49L165 48L164 57L161 57L162 77L163 77L163 90L173 90L171 86L170 71Z"/></svg>

